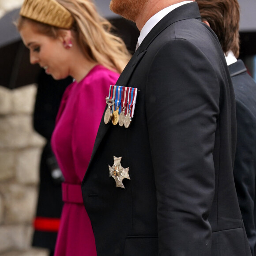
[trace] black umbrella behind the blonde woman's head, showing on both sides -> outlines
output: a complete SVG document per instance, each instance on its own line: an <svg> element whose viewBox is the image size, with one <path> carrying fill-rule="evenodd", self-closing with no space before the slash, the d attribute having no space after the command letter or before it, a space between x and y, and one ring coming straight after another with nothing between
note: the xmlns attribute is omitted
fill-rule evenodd
<svg viewBox="0 0 256 256"><path fill-rule="evenodd" d="M116 27L113 32L123 38L127 48L133 52L139 35L135 24L110 11L110 0L95 0L95 3L99 13ZM10 11L0 19L0 86L10 89L36 83L42 69L39 65L30 64L29 50L15 27L19 10Z"/></svg>

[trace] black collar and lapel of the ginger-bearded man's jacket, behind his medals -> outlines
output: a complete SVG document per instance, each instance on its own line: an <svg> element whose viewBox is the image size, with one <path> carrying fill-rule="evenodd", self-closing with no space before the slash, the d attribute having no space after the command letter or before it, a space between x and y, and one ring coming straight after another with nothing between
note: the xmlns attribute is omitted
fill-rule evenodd
<svg viewBox="0 0 256 256"><path fill-rule="evenodd" d="M190 4L184 4L179 8L174 9L166 15L159 23L157 23L154 28L151 30L151 32L147 35L147 37L143 40L142 44L139 46L137 51L134 53L132 56L131 60L127 64L127 66L124 68L124 71L121 73L119 79L117 80L117 85L118 86L124 86L124 87L129 87L129 80L130 77L132 76L132 73L134 72L137 64L139 61L143 58L145 53L147 52L148 46L151 44L151 42L160 34L163 30L166 29L166 27L170 26L174 22L177 22L179 20L183 19L200 19L200 13L198 9L197 3L193 2ZM132 85L130 85L132 87ZM105 113L105 112L104 112ZM89 166L87 169L89 169L91 162L94 158L95 153L98 150L98 147L100 143L102 142L102 139L104 138L106 132L108 131L109 127L111 124L105 124L104 123L104 116L102 117L98 133L95 139L94 143L94 148L92 151L92 155L90 158Z"/></svg>

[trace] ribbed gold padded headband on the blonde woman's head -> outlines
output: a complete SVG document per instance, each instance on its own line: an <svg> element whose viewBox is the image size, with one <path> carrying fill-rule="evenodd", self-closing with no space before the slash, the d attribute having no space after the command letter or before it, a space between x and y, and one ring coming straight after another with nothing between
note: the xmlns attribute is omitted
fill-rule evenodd
<svg viewBox="0 0 256 256"><path fill-rule="evenodd" d="M55 0L25 0L19 14L63 29L71 29L74 22L71 13Z"/></svg>

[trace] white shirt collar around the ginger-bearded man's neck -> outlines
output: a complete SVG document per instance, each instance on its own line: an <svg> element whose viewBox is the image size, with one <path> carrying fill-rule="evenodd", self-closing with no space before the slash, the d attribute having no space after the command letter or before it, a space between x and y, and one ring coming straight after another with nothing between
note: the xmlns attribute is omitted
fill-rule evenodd
<svg viewBox="0 0 256 256"><path fill-rule="evenodd" d="M142 30L140 31L139 38L138 38L138 43L139 45L142 43L144 38L147 36L147 34L151 31L151 29L164 17L166 16L169 12L173 11L174 9L180 7L183 4L188 4L192 3L192 1L183 1L181 3L177 4L172 4L161 11L158 11L154 16L152 16L146 24L143 26Z"/></svg>

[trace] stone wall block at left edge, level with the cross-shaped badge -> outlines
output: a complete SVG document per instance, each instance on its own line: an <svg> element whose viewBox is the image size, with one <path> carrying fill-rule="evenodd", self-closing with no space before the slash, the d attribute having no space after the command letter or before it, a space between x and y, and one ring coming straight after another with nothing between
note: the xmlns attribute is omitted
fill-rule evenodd
<svg viewBox="0 0 256 256"><path fill-rule="evenodd" d="M15 152L0 151L0 181L15 177Z"/></svg>

